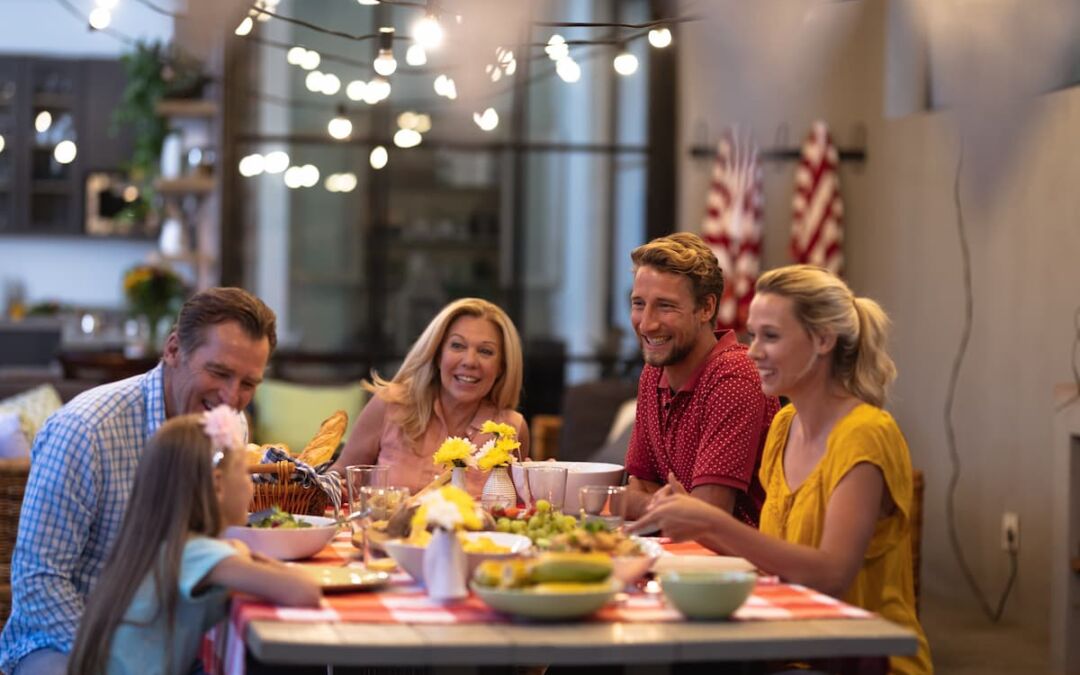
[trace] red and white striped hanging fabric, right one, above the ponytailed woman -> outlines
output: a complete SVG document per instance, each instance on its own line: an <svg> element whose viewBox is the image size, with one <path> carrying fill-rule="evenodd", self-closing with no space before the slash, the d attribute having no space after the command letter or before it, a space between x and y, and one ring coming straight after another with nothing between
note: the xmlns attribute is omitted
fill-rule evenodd
<svg viewBox="0 0 1080 675"><path fill-rule="evenodd" d="M843 200L837 173L839 154L824 122L814 122L795 170L792 202L792 258L843 271Z"/></svg>

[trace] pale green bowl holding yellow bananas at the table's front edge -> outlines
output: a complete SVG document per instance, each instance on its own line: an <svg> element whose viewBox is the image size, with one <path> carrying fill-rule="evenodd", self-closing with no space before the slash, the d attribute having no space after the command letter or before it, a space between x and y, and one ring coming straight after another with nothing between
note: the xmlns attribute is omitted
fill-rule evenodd
<svg viewBox="0 0 1080 675"><path fill-rule="evenodd" d="M545 553L536 558L489 561L470 586L495 610L538 620L588 617L622 590L604 554Z"/></svg>

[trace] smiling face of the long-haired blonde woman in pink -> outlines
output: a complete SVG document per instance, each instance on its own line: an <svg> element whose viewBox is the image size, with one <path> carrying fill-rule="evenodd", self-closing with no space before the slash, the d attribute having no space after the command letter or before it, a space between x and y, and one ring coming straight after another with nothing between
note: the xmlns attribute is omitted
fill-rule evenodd
<svg viewBox="0 0 1080 675"><path fill-rule="evenodd" d="M449 402L471 404L485 399L501 373L499 328L480 316L455 319L438 349L438 380Z"/></svg>

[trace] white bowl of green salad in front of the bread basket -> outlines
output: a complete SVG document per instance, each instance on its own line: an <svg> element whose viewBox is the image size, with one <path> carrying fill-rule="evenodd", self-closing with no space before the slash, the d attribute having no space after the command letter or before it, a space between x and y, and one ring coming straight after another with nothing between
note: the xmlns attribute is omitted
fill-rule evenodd
<svg viewBox="0 0 1080 675"><path fill-rule="evenodd" d="M322 551L337 531L334 518L292 514L273 507L251 514L245 527L226 528L225 538L239 539L254 553L268 557L299 561Z"/></svg>

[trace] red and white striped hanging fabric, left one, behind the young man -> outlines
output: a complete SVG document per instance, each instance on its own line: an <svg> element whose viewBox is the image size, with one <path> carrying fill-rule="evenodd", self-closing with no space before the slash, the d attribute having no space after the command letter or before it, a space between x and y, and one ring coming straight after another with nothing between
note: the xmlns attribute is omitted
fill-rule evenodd
<svg viewBox="0 0 1080 675"><path fill-rule="evenodd" d="M743 330L761 271L761 165L757 147L738 131L724 133L716 148L713 179L701 235L724 270L718 328Z"/></svg>

